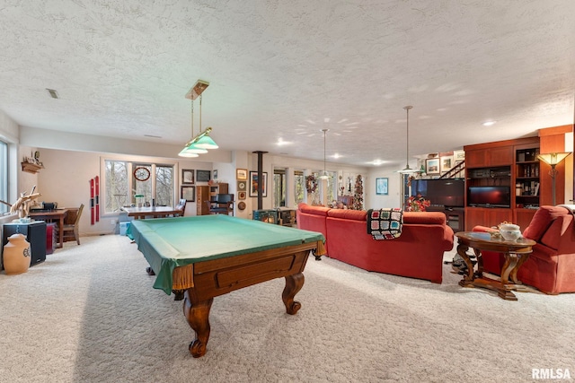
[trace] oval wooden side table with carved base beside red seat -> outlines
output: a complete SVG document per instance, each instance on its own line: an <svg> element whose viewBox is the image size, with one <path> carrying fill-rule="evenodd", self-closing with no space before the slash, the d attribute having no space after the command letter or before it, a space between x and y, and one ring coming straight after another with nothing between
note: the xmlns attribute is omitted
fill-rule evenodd
<svg viewBox="0 0 575 383"><path fill-rule="evenodd" d="M529 291L523 284L517 281L517 270L525 263L535 246L535 240L520 238L517 240L492 239L490 233L479 231L456 232L459 241L457 254L464 259L467 265L467 274L459 282L462 287L482 287L495 290L504 300L517 300L513 290ZM473 248L477 257L477 271L474 270L467 250ZM505 263L501 267L499 280L483 275L482 250L503 253Z"/></svg>

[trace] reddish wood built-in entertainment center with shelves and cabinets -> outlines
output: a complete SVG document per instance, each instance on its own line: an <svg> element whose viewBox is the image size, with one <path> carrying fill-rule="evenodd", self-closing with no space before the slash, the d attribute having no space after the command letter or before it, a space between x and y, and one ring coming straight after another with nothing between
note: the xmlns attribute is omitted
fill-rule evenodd
<svg viewBox="0 0 575 383"><path fill-rule="evenodd" d="M539 206L552 205L551 167L537 154L565 151L565 134L572 126L539 130L536 137L464 146L465 152L465 231L474 226L497 226L513 222L525 230ZM557 204L565 200L565 161L557 165L555 178ZM470 188L509 190L502 205L473 204ZM502 197L501 197L502 198Z"/></svg>

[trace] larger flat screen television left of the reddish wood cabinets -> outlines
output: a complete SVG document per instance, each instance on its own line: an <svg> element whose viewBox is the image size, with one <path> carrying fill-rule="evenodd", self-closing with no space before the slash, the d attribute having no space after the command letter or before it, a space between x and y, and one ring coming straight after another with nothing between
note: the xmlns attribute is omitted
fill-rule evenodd
<svg viewBox="0 0 575 383"><path fill-rule="evenodd" d="M465 181L463 178L414 179L411 196L429 199L432 206L464 207Z"/></svg>

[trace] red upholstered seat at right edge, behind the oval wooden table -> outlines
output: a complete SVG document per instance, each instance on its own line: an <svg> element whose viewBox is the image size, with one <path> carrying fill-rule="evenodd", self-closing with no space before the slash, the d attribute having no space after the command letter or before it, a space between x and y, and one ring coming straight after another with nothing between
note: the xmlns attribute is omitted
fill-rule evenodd
<svg viewBox="0 0 575 383"><path fill-rule="evenodd" d="M476 226L473 231L490 231ZM517 279L547 294L575 292L575 226L572 208L541 206L523 231L535 247L526 263L517 271ZM504 257L500 253L482 252L483 270L499 275Z"/></svg>

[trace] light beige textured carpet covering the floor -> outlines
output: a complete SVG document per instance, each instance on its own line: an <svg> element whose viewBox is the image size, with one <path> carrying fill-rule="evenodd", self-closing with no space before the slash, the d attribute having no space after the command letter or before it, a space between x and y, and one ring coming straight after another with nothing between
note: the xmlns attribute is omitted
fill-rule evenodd
<svg viewBox="0 0 575 383"><path fill-rule="evenodd" d="M461 288L449 265L436 284L310 257L296 316L281 301L283 279L217 297L208 353L194 359L181 301L153 289L145 268L135 244L109 235L67 242L26 274L0 274L0 381L525 382L540 368L575 375L574 294L506 301Z"/></svg>

